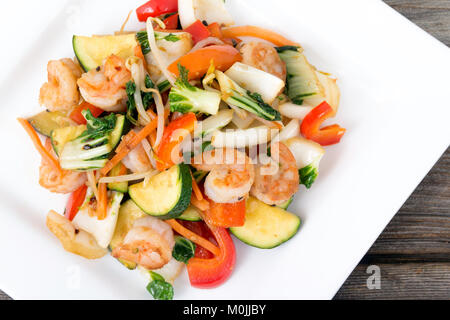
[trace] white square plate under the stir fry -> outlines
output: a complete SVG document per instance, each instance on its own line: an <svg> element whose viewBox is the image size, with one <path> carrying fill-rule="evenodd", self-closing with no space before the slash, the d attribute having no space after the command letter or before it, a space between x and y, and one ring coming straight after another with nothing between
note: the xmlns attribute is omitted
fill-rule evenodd
<svg viewBox="0 0 450 320"><path fill-rule="evenodd" d="M139 1L2 2L0 288L21 299L148 299L146 283L111 257L66 253L45 227L65 197L38 181L39 156L15 120L39 109L49 59L71 57L72 34L118 30ZM339 78L335 119L347 128L327 148L314 187L290 208L303 220L287 244L263 251L235 241L232 278L177 299L330 299L449 143L449 49L375 0L227 1L237 24L300 42ZM27 12L23 8L27 7ZM135 18L133 18L135 20ZM135 21L130 26L136 25Z"/></svg>

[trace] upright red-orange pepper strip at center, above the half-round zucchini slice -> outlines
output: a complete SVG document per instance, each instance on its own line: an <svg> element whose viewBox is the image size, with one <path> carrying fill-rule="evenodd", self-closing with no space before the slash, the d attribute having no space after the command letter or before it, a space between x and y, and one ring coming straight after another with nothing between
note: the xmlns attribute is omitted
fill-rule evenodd
<svg viewBox="0 0 450 320"><path fill-rule="evenodd" d="M174 159L174 152L177 152L176 155L179 156L179 146L181 142L183 142L189 134L194 132L196 125L197 117L192 112L169 123L164 129L162 141L156 152L156 166L158 170L166 170L175 164L176 159Z"/></svg>

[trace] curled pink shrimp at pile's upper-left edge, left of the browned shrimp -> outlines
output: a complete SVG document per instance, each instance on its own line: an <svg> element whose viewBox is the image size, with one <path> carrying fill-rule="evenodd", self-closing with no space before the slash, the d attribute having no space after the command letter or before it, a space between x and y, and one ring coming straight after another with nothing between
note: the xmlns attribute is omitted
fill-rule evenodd
<svg viewBox="0 0 450 320"><path fill-rule="evenodd" d="M81 69L71 59L52 60L47 64L48 82L39 93L39 103L50 111L68 110L80 101L77 80Z"/></svg>

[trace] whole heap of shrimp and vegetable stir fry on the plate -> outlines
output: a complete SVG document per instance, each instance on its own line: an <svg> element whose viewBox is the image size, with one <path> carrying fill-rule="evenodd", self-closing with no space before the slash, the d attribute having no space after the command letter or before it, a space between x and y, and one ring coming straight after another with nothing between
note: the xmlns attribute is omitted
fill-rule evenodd
<svg viewBox="0 0 450 320"><path fill-rule="evenodd" d="M135 12L140 30L73 36L75 57L48 62L44 111L18 120L42 156L39 184L69 197L46 218L63 248L110 255L170 300L185 268L195 288L229 279L235 241L293 238L288 207L345 129L322 125L338 111L336 79L300 44L235 26L224 1Z"/></svg>

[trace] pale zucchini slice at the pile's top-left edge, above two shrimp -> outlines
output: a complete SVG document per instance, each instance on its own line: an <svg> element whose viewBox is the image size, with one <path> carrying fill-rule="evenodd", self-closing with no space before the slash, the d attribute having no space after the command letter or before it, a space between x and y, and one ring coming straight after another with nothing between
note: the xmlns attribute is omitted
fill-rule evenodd
<svg viewBox="0 0 450 320"><path fill-rule="evenodd" d="M103 65L103 61L112 54L126 60L134 55L134 48L137 46L134 33L117 36L73 36L72 44L75 55L86 72Z"/></svg>

